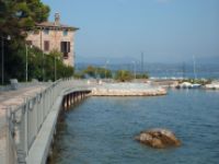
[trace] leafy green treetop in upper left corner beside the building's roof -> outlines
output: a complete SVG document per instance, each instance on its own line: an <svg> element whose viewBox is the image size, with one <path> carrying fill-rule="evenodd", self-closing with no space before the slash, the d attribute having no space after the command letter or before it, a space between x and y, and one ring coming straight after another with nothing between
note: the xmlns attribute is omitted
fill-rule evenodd
<svg viewBox="0 0 219 164"><path fill-rule="evenodd" d="M41 0L2 0L0 1L0 36L10 35L11 46L19 49L24 44L27 31L35 23L46 21L49 7Z"/></svg>

